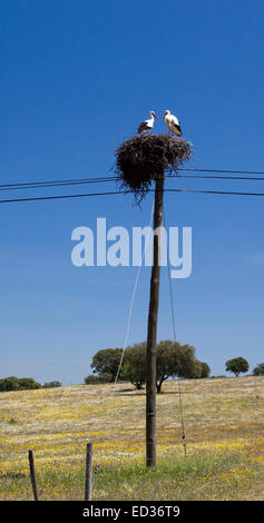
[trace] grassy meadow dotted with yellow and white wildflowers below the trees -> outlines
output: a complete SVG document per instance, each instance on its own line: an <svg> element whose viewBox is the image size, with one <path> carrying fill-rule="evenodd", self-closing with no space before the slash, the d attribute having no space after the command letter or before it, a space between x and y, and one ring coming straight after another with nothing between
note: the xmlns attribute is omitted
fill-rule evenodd
<svg viewBox="0 0 264 523"><path fill-rule="evenodd" d="M263 500L264 377L177 382L157 396L156 471L145 467L145 391L118 384L0 394L0 499L31 500L33 450L41 500L84 500L94 443L94 500Z"/></svg>

